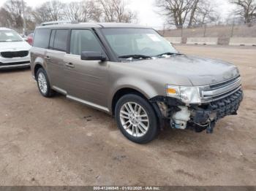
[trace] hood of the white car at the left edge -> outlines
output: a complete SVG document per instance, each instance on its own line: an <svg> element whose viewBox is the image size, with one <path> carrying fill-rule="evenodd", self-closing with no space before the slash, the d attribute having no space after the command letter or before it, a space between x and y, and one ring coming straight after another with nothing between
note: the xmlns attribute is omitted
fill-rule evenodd
<svg viewBox="0 0 256 191"><path fill-rule="evenodd" d="M28 42L0 42L0 51L18 51L18 50L30 50L31 46Z"/></svg>

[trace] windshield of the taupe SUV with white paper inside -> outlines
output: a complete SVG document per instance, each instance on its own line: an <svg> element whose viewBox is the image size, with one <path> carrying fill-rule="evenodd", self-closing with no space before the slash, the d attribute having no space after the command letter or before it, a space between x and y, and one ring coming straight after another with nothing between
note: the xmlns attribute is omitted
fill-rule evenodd
<svg viewBox="0 0 256 191"><path fill-rule="evenodd" d="M157 56L178 53L165 38L148 28L102 28L112 50L118 57L124 55Z"/></svg>

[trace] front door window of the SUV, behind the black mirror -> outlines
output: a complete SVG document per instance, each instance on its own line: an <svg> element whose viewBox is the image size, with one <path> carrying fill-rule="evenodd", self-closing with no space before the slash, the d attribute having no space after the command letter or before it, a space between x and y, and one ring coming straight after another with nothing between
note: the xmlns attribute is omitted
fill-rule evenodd
<svg viewBox="0 0 256 191"><path fill-rule="evenodd" d="M96 36L89 30L72 30L70 54L81 55L83 51L103 52Z"/></svg>

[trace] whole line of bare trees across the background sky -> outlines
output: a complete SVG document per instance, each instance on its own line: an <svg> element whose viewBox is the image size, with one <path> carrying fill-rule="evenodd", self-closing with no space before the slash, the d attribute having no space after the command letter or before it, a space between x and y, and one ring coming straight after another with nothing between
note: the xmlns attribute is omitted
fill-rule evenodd
<svg viewBox="0 0 256 191"><path fill-rule="evenodd" d="M236 9L230 12L230 17L234 17L236 23L250 25L255 22L256 0L224 1L235 5ZM222 7L211 0L155 0L155 7L166 23L176 28L217 24L221 20ZM138 21L137 12L129 9L126 0L81 0L67 4L49 0L35 8L29 7L26 0L7 0L0 7L0 26L23 28L23 17L29 31L40 23L54 20L118 23Z"/></svg>

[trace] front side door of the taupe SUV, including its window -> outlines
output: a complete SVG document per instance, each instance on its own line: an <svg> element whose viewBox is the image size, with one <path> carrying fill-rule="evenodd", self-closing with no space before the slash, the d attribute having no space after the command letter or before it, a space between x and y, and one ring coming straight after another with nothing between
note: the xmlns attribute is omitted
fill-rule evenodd
<svg viewBox="0 0 256 191"><path fill-rule="evenodd" d="M104 52L99 39L91 30L73 29L70 53L65 55L65 89L69 98L108 111L108 62L82 61L82 51Z"/></svg>

